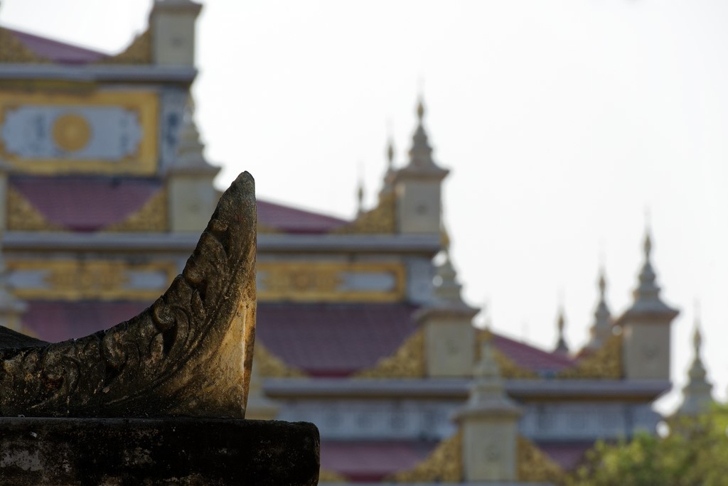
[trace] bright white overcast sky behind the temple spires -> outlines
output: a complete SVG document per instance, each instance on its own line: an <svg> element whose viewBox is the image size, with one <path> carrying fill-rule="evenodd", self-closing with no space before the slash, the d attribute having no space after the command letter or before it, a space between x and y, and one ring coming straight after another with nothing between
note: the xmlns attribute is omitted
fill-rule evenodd
<svg viewBox="0 0 728 486"><path fill-rule="evenodd" d="M3 0L0 23L118 52L150 6ZM600 254L612 311L628 306L649 208L662 296L681 309L673 379L692 359L698 299L724 399L726 25L720 0L208 1L197 121L220 186L249 170L263 198L349 218L360 175L375 200L388 132L405 162L424 85L467 300L550 347L563 292L580 346Z"/></svg>

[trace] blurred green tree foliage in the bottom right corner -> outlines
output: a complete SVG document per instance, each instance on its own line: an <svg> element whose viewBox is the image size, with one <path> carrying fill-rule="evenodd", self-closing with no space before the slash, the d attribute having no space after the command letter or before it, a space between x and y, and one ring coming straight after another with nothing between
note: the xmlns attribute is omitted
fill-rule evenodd
<svg viewBox="0 0 728 486"><path fill-rule="evenodd" d="M569 478L579 486L728 486L728 407L675 418L666 437L598 442Z"/></svg>

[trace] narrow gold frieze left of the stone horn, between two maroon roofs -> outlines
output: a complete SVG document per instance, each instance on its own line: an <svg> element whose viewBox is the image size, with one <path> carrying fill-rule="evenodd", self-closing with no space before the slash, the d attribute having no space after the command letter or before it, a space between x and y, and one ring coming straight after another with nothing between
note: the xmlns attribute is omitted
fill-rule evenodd
<svg viewBox="0 0 728 486"><path fill-rule="evenodd" d="M9 271L18 274L40 274L43 287L14 288L23 299L56 300L153 300L159 289L172 282L177 274L173 262L132 264L123 260L9 260ZM159 287L132 287L134 274L159 274L164 281Z"/></svg>

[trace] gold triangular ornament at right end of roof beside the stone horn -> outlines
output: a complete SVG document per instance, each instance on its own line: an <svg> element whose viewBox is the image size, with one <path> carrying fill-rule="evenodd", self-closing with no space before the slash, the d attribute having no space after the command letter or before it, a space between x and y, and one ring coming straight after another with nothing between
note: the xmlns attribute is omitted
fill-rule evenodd
<svg viewBox="0 0 728 486"><path fill-rule="evenodd" d="M379 359L374 367L353 378L424 378L424 330L419 328L391 356Z"/></svg>

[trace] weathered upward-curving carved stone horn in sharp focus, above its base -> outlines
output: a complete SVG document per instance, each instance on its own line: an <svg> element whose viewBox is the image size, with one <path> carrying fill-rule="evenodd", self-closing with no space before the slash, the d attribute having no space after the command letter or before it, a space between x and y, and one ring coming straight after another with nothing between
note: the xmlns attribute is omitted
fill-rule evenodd
<svg viewBox="0 0 728 486"><path fill-rule="evenodd" d="M255 188L245 172L182 274L138 316L52 344L0 327L0 415L244 418L255 259Z"/></svg>

